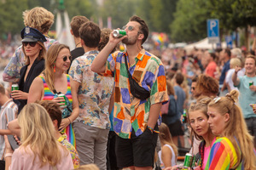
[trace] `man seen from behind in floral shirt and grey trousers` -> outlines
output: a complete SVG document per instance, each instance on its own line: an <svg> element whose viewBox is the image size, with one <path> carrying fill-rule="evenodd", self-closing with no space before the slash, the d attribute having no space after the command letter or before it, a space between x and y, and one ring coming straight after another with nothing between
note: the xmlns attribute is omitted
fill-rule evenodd
<svg viewBox="0 0 256 170"><path fill-rule="evenodd" d="M101 30L93 22L79 28L84 55L73 60L69 75L79 97L79 117L73 122L81 165L95 163L107 169L107 142L110 129L108 105L113 91L113 78L90 71L99 53Z"/></svg>

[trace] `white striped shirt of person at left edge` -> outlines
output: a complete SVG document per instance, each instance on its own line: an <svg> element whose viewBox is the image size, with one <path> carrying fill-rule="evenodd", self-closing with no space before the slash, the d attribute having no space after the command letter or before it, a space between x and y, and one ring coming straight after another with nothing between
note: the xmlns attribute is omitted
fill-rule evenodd
<svg viewBox="0 0 256 170"><path fill-rule="evenodd" d="M13 121L18 114L18 106L15 104L13 99L9 99L2 107L0 111L0 128L8 129L7 124ZM4 138L0 135L0 158L3 160L4 156Z"/></svg>

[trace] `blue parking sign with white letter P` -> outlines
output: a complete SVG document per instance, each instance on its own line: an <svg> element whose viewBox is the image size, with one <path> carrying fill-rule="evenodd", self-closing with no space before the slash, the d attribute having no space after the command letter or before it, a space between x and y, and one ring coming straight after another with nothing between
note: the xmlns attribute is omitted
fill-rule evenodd
<svg viewBox="0 0 256 170"><path fill-rule="evenodd" d="M209 43L219 42L218 19L207 20L207 36Z"/></svg>

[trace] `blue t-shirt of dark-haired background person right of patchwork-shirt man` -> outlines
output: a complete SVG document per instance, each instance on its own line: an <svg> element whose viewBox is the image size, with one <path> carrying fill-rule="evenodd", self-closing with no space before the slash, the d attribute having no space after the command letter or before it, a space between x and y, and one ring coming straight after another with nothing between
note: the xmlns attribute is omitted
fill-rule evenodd
<svg viewBox="0 0 256 170"><path fill-rule="evenodd" d="M174 86L175 95L177 96L177 111L178 116L180 117L183 114L183 105L186 99L186 94L183 91L183 88L179 86Z"/></svg>

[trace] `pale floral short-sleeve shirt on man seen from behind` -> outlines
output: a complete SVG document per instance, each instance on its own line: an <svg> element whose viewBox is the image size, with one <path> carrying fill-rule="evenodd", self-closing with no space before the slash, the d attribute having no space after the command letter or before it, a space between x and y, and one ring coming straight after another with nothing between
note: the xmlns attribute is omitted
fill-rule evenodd
<svg viewBox="0 0 256 170"><path fill-rule="evenodd" d="M110 129L108 106L113 92L113 78L90 71L98 51L90 51L74 59L69 75L79 82L79 117L76 121L90 127Z"/></svg>

